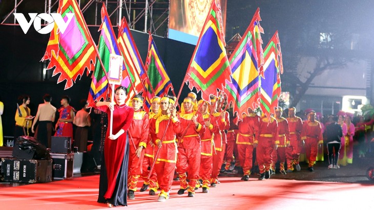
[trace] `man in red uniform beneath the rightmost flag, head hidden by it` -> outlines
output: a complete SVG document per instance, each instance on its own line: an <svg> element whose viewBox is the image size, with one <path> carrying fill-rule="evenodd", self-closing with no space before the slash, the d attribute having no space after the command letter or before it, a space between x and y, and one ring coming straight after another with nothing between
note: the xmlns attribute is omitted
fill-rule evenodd
<svg viewBox="0 0 374 210"><path fill-rule="evenodd" d="M264 180L271 176L272 153L279 145L277 120L273 116L270 118L262 116L256 136L258 139L255 142L255 145L257 145L256 158L260 170L258 179Z"/></svg>

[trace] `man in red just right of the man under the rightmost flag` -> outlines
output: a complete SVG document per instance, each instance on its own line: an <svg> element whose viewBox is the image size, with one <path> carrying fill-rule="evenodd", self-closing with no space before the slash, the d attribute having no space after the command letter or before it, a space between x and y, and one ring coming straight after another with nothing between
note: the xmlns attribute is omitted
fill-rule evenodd
<svg viewBox="0 0 374 210"><path fill-rule="evenodd" d="M278 122L278 149L273 150L272 171L275 172L275 164L279 160L279 172L286 174L284 162L286 161L286 146L289 145L289 128L288 121L282 117L282 108L275 108L275 116Z"/></svg>

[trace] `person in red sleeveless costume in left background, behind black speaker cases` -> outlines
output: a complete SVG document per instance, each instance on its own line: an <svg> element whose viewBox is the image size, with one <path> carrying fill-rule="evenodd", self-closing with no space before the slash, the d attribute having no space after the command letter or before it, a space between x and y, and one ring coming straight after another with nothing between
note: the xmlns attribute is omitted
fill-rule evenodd
<svg viewBox="0 0 374 210"><path fill-rule="evenodd" d="M57 110L59 118L57 120L55 136L69 136L73 142L73 121L75 109L69 105L70 97L63 96L61 98L61 107Z"/></svg>

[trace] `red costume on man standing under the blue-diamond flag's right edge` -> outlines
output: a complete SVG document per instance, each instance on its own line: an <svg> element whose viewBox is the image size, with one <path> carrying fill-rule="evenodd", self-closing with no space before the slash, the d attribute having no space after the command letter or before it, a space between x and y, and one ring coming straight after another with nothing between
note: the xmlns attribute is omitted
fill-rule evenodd
<svg viewBox="0 0 374 210"><path fill-rule="evenodd" d="M222 119L220 116L221 113L214 113L212 114L216 121L218 122L219 129L214 133L214 146L216 152L213 152L213 170L211 175L211 183L218 182L218 175L219 171L221 170L223 157L225 154L226 144L227 144L227 137L225 130L230 129L230 116L227 111L225 111L225 118Z"/></svg>

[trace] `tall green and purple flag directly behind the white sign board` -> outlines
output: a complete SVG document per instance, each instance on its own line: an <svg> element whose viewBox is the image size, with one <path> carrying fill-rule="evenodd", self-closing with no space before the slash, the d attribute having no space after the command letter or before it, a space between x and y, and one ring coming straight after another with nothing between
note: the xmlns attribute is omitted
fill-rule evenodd
<svg viewBox="0 0 374 210"><path fill-rule="evenodd" d="M97 48L105 69L102 69L101 65L95 66L88 95L88 102L90 105L95 101L99 101L101 98L104 100L107 98L109 83L106 74L108 74L109 71L110 54L121 55L107 8L104 4L102 4L101 8L101 26L99 31L100 36ZM96 63L98 63L98 61L96 61Z"/></svg>

